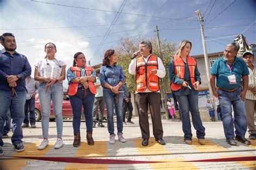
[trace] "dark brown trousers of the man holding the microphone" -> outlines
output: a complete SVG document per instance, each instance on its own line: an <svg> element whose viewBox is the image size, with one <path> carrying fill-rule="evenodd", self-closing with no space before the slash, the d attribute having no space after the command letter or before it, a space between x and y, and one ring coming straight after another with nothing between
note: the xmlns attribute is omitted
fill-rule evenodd
<svg viewBox="0 0 256 170"><path fill-rule="evenodd" d="M153 135L155 138L163 138L163 126L160 112L160 93L137 93L136 104L139 114L139 127L142 131L142 138L150 138L148 107L153 125Z"/></svg>

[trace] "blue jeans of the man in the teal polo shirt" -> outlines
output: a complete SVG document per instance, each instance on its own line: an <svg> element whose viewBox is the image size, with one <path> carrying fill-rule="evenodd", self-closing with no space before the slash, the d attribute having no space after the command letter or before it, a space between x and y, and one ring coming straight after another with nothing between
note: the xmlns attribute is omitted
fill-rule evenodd
<svg viewBox="0 0 256 170"><path fill-rule="evenodd" d="M223 128L226 138L234 137L234 126L235 134L237 136L245 136L246 133L246 113L245 103L242 101L239 94L242 91L242 87L237 90L228 92L223 90L217 90L219 93L219 104L221 105L221 114L223 121ZM232 105L234 109L234 125L232 118Z"/></svg>

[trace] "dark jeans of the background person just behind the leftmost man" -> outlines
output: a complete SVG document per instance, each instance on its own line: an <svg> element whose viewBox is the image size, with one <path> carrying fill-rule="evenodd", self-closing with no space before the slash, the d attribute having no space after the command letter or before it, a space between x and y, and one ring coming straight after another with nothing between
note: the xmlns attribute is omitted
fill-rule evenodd
<svg viewBox="0 0 256 170"><path fill-rule="evenodd" d="M30 124L35 125L36 124L36 118L35 118L35 98L30 98L29 100L26 100L25 107L25 118L23 123L24 124Z"/></svg>

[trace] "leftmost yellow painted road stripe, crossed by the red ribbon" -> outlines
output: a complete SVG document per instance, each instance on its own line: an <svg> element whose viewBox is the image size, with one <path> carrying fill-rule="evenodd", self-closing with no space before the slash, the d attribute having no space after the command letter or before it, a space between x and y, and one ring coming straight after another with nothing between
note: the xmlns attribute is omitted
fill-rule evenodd
<svg viewBox="0 0 256 170"><path fill-rule="evenodd" d="M13 157L43 157L48 150L53 146L53 143L49 143L49 145L42 151L37 150L37 146L40 143L29 143L25 145L25 150L23 152L16 152ZM15 149L15 148L14 148ZM26 166L26 161L30 159L13 159L13 160L2 160L0 161L1 166L4 169L21 169Z"/></svg>

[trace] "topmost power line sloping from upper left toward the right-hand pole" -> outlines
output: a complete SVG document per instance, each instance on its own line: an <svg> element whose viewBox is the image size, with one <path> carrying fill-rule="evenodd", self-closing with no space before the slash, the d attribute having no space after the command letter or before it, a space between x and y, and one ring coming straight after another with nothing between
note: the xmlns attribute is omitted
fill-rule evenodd
<svg viewBox="0 0 256 170"><path fill-rule="evenodd" d="M78 9L85 9L85 10L118 13L117 11L91 9L91 8L84 8L84 7L79 7L79 6L63 5L63 4L56 4L56 3L49 3L49 2L42 2L42 1L35 1L35 0L30 0L30 1L38 2L38 3L44 3L44 4L51 4L51 5L65 6L65 7L69 7L69 8L78 8ZM192 16L190 16L190 17L183 17L183 18L166 18L166 17L154 17L154 16L141 15L141 14L137 14L137 13L128 13L128 12L121 12L121 13L126 14L126 15L134 15L134 16L142 16L142 17L152 17L152 18L161 18L161 19L173 19L173 20L186 20L184 18L191 18L192 17Z"/></svg>

